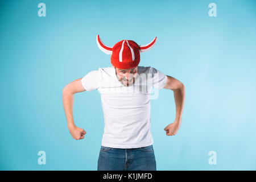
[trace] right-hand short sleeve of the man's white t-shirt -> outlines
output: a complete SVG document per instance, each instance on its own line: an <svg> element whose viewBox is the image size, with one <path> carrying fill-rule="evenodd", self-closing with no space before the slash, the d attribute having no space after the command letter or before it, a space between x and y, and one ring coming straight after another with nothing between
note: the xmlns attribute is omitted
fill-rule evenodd
<svg viewBox="0 0 256 182"><path fill-rule="evenodd" d="M167 76L160 72L158 69L150 68L150 73L152 74L152 86L156 89L163 89L166 86Z"/></svg>

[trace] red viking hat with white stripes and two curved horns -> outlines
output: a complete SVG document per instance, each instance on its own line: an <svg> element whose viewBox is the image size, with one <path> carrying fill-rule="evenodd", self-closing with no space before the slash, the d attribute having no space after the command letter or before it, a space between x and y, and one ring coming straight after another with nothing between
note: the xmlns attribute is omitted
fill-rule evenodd
<svg viewBox="0 0 256 182"><path fill-rule="evenodd" d="M139 53L146 52L156 43L155 38L151 43L145 46L138 46L133 40L121 40L113 47L105 46L101 42L100 36L97 35L97 45L107 55L111 55L111 63L114 67L119 69L135 68L141 60Z"/></svg>

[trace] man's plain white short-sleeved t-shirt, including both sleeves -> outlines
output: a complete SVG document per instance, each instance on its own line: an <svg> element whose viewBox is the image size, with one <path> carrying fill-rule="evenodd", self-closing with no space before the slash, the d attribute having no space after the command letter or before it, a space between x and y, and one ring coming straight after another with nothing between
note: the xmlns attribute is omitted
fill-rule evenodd
<svg viewBox="0 0 256 182"><path fill-rule="evenodd" d="M104 113L101 145L113 148L138 148L153 144L150 131L150 96L152 87L162 89L167 76L152 67L138 66L131 86L123 85L114 67L98 68L82 77L86 91L97 89Z"/></svg>

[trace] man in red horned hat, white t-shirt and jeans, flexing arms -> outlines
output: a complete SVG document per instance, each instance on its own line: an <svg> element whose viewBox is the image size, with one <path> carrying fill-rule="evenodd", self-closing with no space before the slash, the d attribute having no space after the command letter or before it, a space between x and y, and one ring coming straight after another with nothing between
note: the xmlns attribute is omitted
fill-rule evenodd
<svg viewBox="0 0 256 182"><path fill-rule="evenodd" d="M113 47L108 47L97 35L98 47L111 54L113 67L91 71L63 89L68 129L76 140L84 139L86 131L77 127L73 121L73 95L95 89L101 94L105 127L98 170L156 170L150 131L152 87L174 91L176 119L164 131L166 135L174 136L180 128L185 86L155 68L138 66L140 52L148 51L155 43L156 38L146 46L138 46L132 40L121 40Z"/></svg>

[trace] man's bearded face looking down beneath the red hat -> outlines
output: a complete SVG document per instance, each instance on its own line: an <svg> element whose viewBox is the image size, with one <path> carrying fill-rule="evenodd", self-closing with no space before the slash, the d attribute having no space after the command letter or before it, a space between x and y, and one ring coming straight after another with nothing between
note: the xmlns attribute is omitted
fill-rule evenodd
<svg viewBox="0 0 256 182"><path fill-rule="evenodd" d="M131 86L134 84L137 73L138 67L129 69L115 68L115 75L117 75L118 80L125 86Z"/></svg>

